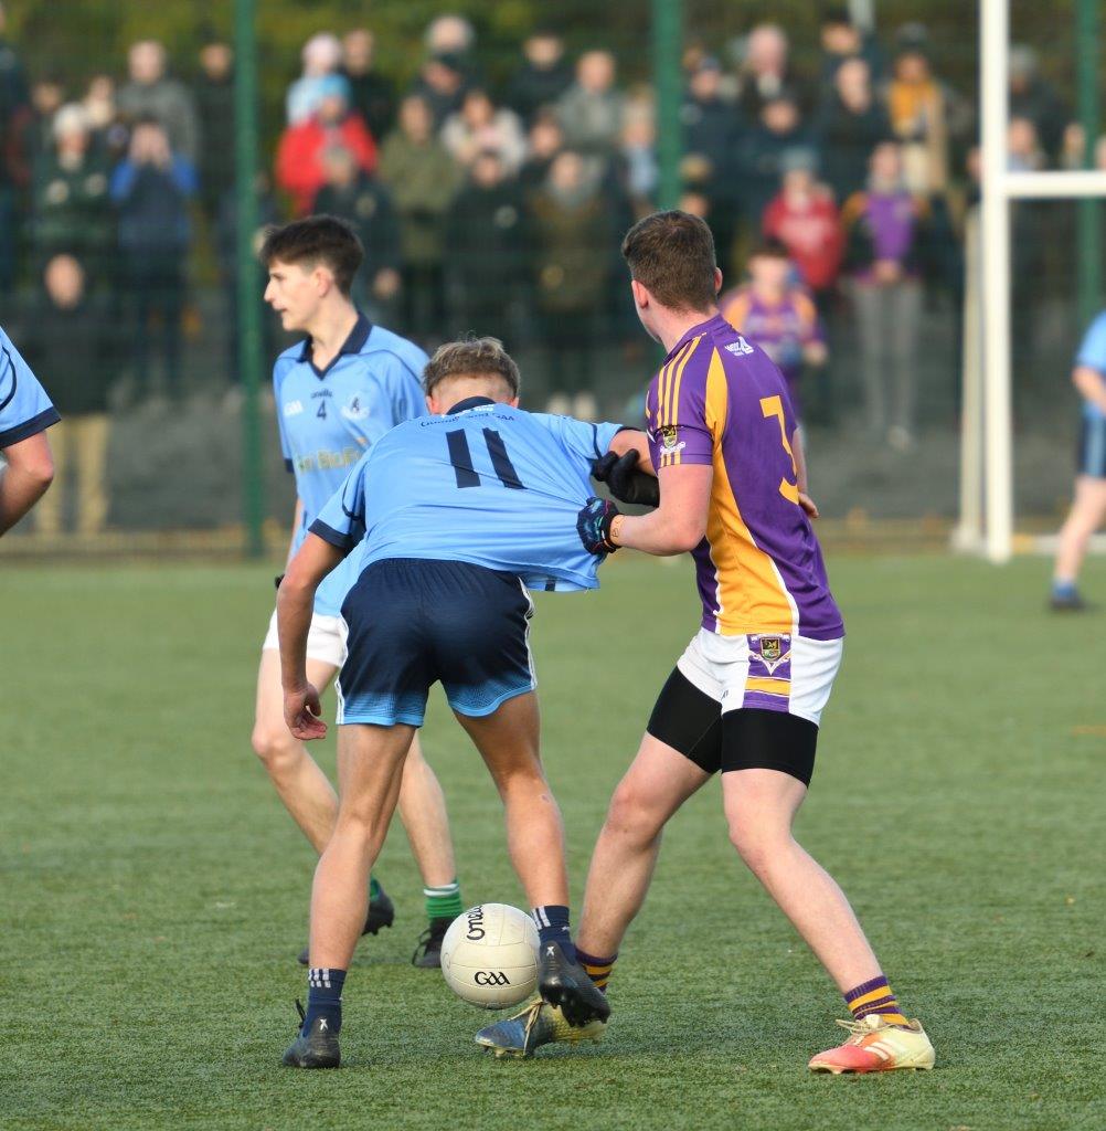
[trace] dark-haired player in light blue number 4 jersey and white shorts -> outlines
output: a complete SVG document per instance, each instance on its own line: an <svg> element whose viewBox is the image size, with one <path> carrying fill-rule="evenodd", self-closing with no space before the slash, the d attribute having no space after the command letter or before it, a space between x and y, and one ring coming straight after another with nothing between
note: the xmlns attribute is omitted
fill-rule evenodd
<svg viewBox="0 0 1106 1131"><path fill-rule="evenodd" d="M372 326L350 301L363 254L350 227L332 216L308 216L275 228L261 249L269 271L265 301L286 330L307 335L277 359L272 374L281 449L296 476L289 559L350 466L393 425L426 412L419 383L426 354L406 338ZM315 596L307 664L312 683L320 689L330 683L346 656L339 613L352 580L348 571L336 571ZM321 854L334 828L338 797L304 744L285 726L276 612L258 673L253 749L288 812ZM429 920L411 960L436 967L445 930L462 910L461 891L445 798L417 743L403 775L400 814L423 873ZM391 926L394 909L376 880L367 882L372 890L363 930L375 934ZM306 949L301 961L307 961Z"/></svg>

